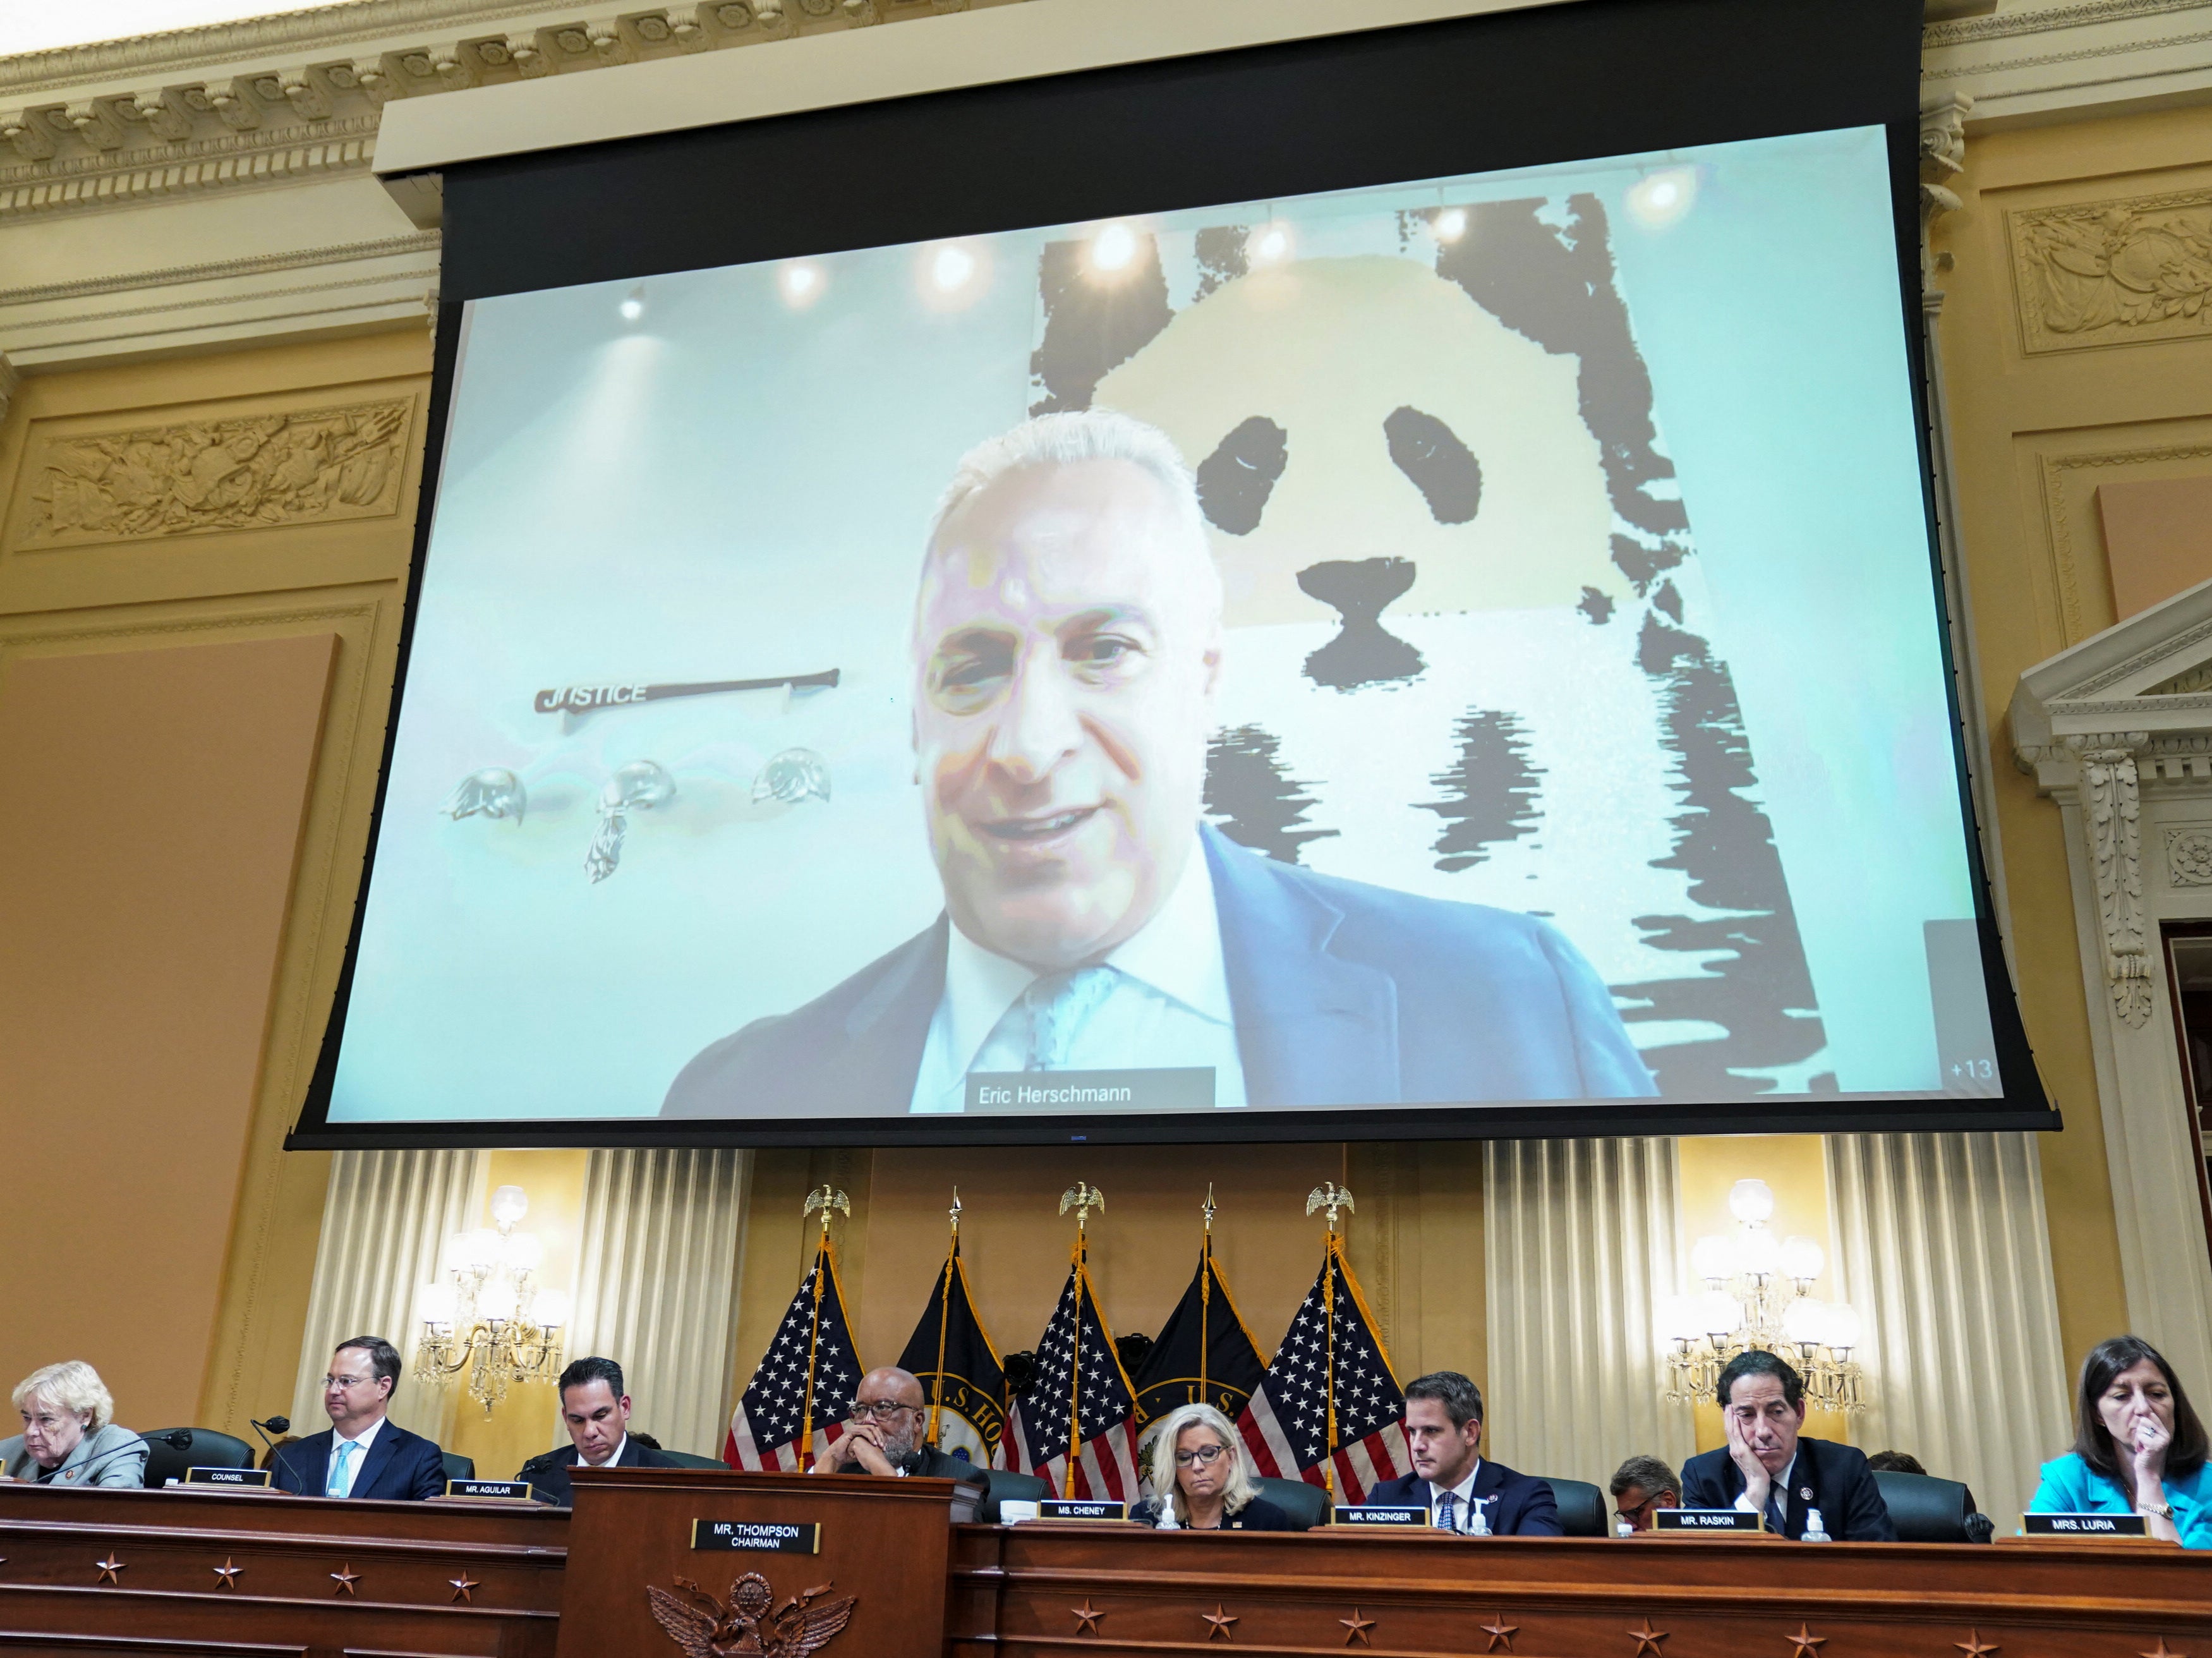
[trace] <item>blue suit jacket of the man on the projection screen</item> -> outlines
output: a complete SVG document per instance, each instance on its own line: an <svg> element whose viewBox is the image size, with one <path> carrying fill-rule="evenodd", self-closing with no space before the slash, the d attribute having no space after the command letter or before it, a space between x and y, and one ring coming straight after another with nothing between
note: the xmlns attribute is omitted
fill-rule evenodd
<svg viewBox="0 0 2212 1658"><path fill-rule="evenodd" d="M1245 1099L1396 1105L1657 1094L1613 995L1553 926L1248 851L1201 827ZM692 1059L661 1116L898 1116L949 922Z"/></svg>

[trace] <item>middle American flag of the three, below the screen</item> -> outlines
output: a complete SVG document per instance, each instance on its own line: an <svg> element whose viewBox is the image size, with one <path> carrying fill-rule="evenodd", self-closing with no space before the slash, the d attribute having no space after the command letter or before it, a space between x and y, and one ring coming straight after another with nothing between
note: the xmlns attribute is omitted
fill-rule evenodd
<svg viewBox="0 0 2212 1658"><path fill-rule="evenodd" d="M1071 1404L1082 1428L1073 1486ZM1042 1477L1055 1492L1117 1503L1135 1503L1144 1492L1137 1477L1137 1391L1113 1351L1113 1333L1099 1318L1082 1258L1068 1269L1068 1287L1060 1291L1053 1322L1037 1337L1037 1377L1029 1397L1015 1399L1006 1413L1002 1444L1009 1468Z"/></svg>

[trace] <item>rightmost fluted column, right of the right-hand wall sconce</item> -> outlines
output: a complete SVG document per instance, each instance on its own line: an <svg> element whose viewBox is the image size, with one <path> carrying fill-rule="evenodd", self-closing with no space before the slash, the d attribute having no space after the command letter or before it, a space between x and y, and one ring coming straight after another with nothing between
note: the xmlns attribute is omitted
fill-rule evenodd
<svg viewBox="0 0 2212 1658"><path fill-rule="evenodd" d="M1836 1287L1867 1318L1851 1439L1964 1479L2011 1534L2070 1441L2033 1134L1832 1134Z"/></svg>

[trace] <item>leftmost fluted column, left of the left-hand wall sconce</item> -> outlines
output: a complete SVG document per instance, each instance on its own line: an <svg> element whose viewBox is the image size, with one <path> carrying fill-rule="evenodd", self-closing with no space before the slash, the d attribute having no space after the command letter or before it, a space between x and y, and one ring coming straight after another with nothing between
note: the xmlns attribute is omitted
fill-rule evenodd
<svg viewBox="0 0 2212 1658"><path fill-rule="evenodd" d="M445 1240L469 1225L476 1158L476 1152L338 1152L330 1161L292 1433L330 1426L323 1373L330 1351L349 1335L383 1335L414 1366L416 1293L436 1282ZM418 1391L400 1373L394 1421L442 1439L449 1413L449 1391Z"/></svg>

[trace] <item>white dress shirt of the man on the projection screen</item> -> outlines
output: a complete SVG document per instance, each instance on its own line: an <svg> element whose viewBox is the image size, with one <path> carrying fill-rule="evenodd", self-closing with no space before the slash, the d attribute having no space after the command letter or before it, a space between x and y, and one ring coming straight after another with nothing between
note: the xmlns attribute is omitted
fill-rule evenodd
<svg viewBox="0 0 2212 1658"><path fill-rule="evenodd" d="M1243 1061L1221 917L1206 847L1194 842L1175 891L1135 937L1106 957L1113 986L1075 1030L1068 1070L1212 1066L1214 1105L1243 1105ZM1029 1063L1022 993L1042 975L975 944L958 926L945 951L945 995L929 1021L914 1112L967 1110L971 1070Z"/></svg>

